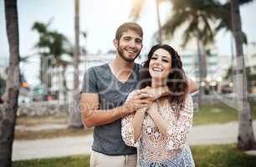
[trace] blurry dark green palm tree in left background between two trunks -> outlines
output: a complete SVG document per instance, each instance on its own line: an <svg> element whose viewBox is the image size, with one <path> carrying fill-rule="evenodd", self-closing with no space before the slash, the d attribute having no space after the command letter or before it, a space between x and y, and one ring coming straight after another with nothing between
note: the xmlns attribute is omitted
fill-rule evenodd
<svg viewBox="0 0 256 167"><path fill-rule="evenodd" d="M72 57L73 53L70 50L72 47L64 34L49 30L49 24L50 22L47 24L38 22L33 24L33 30L39 33L39 40L38 43L36 43L35 48L40 50L40 80L47 86L47 88L50 88L51 73L48 73L49 68L63 67L61 74L64 86L64 101L66 101L67 86L64 75L69 62L65 61L62 56L63 54L68 54Z"/></svg>

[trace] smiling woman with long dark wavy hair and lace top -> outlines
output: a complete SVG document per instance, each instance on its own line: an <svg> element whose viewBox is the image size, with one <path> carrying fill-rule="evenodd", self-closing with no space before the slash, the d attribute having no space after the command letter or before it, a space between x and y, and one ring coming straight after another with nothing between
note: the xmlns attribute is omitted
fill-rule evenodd
<svg viewBox="0 0 256 167"><path fill-rule="evenodd" d="M125 144L138 147L139 162L147 166L194 166L192 153L186 144L192 127L192 98L182 61L169 45L151 48L141 73L141 89L167 86L172 94L152 102L148 109L122 119L121 133ZM131 92L127 100L140 90Z"/></svg>

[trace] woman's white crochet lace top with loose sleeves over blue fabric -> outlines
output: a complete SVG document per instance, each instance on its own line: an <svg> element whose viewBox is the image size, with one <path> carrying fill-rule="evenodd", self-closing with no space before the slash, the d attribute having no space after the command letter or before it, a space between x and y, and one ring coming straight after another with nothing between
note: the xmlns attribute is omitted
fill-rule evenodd
<svg viewBox="0 0 256 167"><path fill-rule="evenodd" d="M133 91L129 94L127 100L131 99L135 93L136 91ZM135 141L131 124L135 114L129 114L121 121L121 134L125 144L138 148L141 166L157 166L157 164L158 166L194 166L192 154L186 142L188 131L192 127L192 97L187 95L181 109L174 104L166 103L166 106L158 107L158 112L166 121L166 136L161 134L151 116L146 114L141 136Z"/></svg>

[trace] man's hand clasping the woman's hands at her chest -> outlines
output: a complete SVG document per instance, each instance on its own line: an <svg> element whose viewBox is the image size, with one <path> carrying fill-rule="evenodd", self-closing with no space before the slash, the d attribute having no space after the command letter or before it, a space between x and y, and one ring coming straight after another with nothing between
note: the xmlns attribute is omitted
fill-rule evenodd
<svg viewBox="0 0 256 167"><path fill-rule="evenodd" d="M131 113L138 109L149 108L152 103L151 97L145 91L137 91L132 95L131 99L127 99L123 107L129 109Z"/></svg>

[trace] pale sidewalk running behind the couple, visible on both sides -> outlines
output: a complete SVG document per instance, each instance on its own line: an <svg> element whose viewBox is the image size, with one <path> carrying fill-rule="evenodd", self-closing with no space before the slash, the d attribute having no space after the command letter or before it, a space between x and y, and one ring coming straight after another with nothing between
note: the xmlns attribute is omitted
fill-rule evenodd
<svg viewBox="0 0 256 167"><path fill-rule="evenodd" d="M256 121L253 121L256 129ZM256 134L254 132L254 134ZM237 142L238 122L194 126L188 134L188 144L230 144ZM255 136L256 137L256 136ZM90 154L92 134L56 139L36 139L13 142L13 160L40 159ZM254 151L248 154L256 154Z"/></svg>

